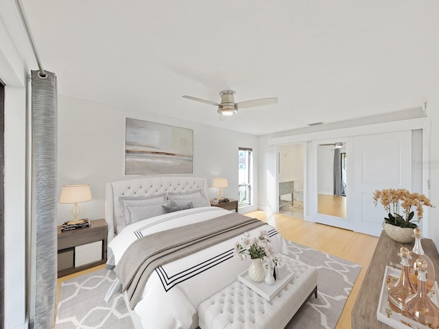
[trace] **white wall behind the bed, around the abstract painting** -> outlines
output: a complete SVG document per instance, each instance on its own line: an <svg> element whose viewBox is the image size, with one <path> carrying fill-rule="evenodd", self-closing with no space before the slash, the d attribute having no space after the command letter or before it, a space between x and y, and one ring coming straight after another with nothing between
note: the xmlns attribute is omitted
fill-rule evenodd
<svg viewBox="0 0 439 329"><path fill-rule="evenodd" d="M225 197L238 198L239 147L253 149L254 171L258 170L256 136L59 95L58 195L64 184L90 184L93 200L80 204L81 218L104 218L106 182L139 177L123 173L126 117L192 129L193 174L189 175L207 178L209 186L214 177L228 178ZM257 191L255 180L255 195ZM217 189L209 188L209 193L216 197ZM59 224L71 219L70 208L69 204L58 204ZM240 211L254 209L257 206Z"/></svg>

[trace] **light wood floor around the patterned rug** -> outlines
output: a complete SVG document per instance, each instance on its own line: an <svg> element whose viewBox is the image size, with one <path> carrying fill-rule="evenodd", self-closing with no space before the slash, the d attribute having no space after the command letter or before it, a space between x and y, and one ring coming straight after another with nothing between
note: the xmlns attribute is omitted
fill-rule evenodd
<svg viewBox="0 0 439 329"><path fill-rule="evenodd" d="M249 217L254 217L274 226L287 240L306 245L308 247L327 252L334 256L350 260L362 266L357 281L348 297L340 320L335 329L351 328L351 311L357 299L359 287L364 280L364 275L368 269L370 259L378 243L378 238L366 234L355 233L332 226L325 226L318 223L311 223L303 219L288 217L281 214L266 215L263 211L248 212ZM103 268L99 265L85 271L64 276L58 279L58 297L61 282L75 278L84 273Z"/></svg>

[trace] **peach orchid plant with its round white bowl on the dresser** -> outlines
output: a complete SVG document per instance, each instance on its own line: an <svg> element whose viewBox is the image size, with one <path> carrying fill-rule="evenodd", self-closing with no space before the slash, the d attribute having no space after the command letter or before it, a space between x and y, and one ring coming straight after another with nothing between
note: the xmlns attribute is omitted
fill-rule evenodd
<svg viewBox="0 0 439 329"><path fill-rule="evenodd" d="M405 188L388 188L375 191L373 195L375 206L378 200L383 205L388 217L384 218L383 228L391 239L401 243L413 241L413 229L423 218L423 206L434 207L423 194L410 193ZM412 207L416 210L416 219Z"/></svg>

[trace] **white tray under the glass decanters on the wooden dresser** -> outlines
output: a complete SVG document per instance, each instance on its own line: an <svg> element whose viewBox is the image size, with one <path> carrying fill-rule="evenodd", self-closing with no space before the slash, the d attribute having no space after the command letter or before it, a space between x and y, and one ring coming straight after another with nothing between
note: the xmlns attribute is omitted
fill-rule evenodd
<svg viewBox="0 0 439 329"><path fill-rule="evenodd" d="M392 312L390 307L388 306L388 294L387 294L387 277L393 276L398 279L401 274L401 270L394 269L390 266L385 267L383 284L381 286L381 295L379 296L378 308L377 308L377 319L383 324L387 324L395 329L407 329L407 328L416 328L416 329L429 329L427 326L420 324L408 317L404 317L403 315ZM438 282L434 282L433 289L431 289L429 297L436 306L438 306ZM434 292L431 294L431 292ZM403 324L401 321L405 321L410 326Z"/></svg>

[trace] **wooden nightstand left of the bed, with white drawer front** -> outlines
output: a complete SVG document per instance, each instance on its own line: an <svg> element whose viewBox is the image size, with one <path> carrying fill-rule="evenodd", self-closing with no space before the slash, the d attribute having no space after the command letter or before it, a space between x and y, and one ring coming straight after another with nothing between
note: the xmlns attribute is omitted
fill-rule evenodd
<svg viewBox="0 0 439 329"><path fill-rule="evenodd" d="M58 278L106 263L107 223L96 219L90 224L69 231L58 226Z"/></svg>

